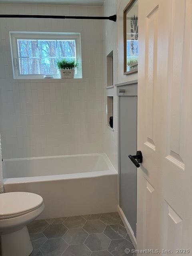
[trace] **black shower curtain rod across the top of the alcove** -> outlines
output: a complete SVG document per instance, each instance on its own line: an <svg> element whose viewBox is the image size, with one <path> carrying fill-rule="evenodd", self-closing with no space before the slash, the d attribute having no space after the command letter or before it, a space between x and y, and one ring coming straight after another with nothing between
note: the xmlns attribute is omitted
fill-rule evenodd
<svg viewBox="0 0 192 256"><path fill-rule="evenodd" d="M38 18L38 19L84 19L84 20L112 20L116 22L117 16L57 16L57 15L20 15L20 14L0 14L0 18Z"/></svg>

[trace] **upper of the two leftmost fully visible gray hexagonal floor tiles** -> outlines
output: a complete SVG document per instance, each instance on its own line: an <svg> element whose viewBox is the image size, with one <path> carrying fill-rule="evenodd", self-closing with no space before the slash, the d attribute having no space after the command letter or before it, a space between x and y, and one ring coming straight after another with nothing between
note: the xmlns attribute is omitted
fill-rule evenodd
<svg viewBox="0 0 192 256"><path fill-rule="evenodd" d="M51 224L43 231L43 234L47 238L60 238L67 230L68 229L63 224Z"/></svg>

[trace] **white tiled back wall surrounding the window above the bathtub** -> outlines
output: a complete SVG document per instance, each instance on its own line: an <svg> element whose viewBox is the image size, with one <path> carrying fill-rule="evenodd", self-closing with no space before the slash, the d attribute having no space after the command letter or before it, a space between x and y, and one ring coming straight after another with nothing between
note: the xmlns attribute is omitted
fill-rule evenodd
<svg viewBox="0 0 192 256"><path fill-rule="evenodd" d="M114 14L114 6L108 12ZM102 7L0 4L0 14L100 16ZM100 20L0 19L0 133L3 158L104 152L103 24L104 21ZM72 82L13 80L10 31L80 32L83 79ZM111 42L109 48L112 46L116 48ZM107 140L109 136L106 134ZM113 139L110 143L115 141ZM107 153L110 159L114 157L114 150Z"/></svg>

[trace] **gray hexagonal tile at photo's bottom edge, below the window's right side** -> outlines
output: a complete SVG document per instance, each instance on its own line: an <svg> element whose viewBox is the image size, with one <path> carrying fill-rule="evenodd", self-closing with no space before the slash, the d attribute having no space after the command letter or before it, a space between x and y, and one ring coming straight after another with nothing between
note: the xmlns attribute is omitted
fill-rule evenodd
<svg viewBox="0 0 192 256"><path fill-rule="evenodd" d="M84 244L68 246L62 256L90 256L91 251Z"/></svg>

